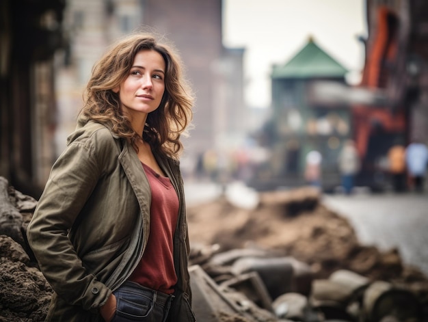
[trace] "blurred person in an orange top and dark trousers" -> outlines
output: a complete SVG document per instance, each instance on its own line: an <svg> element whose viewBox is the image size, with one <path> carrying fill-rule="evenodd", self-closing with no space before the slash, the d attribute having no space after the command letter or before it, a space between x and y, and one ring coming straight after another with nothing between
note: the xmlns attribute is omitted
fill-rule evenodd
<svg viewBox="0 0 428 322"><path fill-rule="evenodd" d="M396 142L388 150L388 172L391 176L392 189L403 192L406 189L405 146Z"/></svg>

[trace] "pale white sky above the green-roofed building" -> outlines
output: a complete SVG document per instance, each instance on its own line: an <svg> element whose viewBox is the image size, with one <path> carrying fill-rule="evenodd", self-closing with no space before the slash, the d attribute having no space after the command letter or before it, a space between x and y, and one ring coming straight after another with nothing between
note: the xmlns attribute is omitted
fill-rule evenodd
<svg viewBox="0 0 428 322"><path fill-rule="evenodd" d="M353 74L364 64L364 0L224 0L224 44L245 47L245 102L269 107L272 64L285 64L313 36Z"/></svg>

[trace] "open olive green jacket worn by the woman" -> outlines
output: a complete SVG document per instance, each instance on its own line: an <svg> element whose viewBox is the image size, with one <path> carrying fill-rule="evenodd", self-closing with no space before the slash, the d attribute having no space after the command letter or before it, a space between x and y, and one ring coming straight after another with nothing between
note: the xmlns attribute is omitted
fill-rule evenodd
<svg viewBox="0 0 428 322"><path fill-rule="evenodd" d="M178 161L155 154L180 200L176 289L191 295L189 239ZM47 321L103 321L98 308L129 278L150 233L150 186L132 146L80 119L52 167L27 237L55 293Z"/></svg>

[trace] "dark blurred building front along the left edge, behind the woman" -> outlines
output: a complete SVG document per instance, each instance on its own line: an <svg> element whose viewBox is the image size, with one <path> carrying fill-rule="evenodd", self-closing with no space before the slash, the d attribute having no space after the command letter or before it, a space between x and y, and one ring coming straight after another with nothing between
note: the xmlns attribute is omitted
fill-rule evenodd
<svg viewBox="0 0 428 322"><path fill-rule="evenodd" d="M0 176L38 196L54 156L63 0L0 1Z"/></svg>

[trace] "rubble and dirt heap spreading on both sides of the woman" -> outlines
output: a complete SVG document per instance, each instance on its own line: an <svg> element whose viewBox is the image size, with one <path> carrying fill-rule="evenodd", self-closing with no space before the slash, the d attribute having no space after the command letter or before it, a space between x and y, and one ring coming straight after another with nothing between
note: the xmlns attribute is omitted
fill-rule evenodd
<svg viewBox="0 0 428 322"><path fill-rule="evenodd" d="M0 321L44 321L52 289L25 239L36 200L0 177ZM358 243L310 188L188 206L200 322L421 321L428 282L399 252Z"/></svg>

